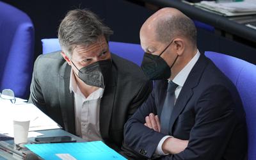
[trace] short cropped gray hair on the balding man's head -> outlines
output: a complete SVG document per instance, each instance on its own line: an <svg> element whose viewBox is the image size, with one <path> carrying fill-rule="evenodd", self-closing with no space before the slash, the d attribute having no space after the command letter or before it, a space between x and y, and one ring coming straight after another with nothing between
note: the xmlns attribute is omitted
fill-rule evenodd
<svg viewBox="0 0 256 160"><path fill-rule="evenodd" d="M156 28L157 40L168 43L175 36L188 38L196 45L196 27L194 22L186 15L174 15L159 20Z"/></svg>

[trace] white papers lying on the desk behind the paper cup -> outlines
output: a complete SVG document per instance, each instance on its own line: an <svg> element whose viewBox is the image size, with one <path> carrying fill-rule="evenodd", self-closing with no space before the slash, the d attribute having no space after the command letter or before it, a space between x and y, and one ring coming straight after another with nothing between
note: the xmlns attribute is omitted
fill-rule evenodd
<svg viewBox="0 0 256 160"><path fill-rule="evenodd" d="M33 104L17 105L10 101L0 100L0 133L12 135L13 120L17 118L30 120L29 131L61 128L60 125Z"/></svg>

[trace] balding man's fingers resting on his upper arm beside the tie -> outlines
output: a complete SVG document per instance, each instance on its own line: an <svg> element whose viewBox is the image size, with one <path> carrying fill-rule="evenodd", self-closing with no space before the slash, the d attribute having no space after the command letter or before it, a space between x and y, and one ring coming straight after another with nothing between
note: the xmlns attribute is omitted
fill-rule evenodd
<svg viewBox="0 0 256 160"><path fill-rule="evenodd" d="M145 118L146 123L144 124L150 129L154 129L154 131L160 132L161 131L161 125L158 116L154 115L154 113L150 113L149 116L146 116Z"/></svg>

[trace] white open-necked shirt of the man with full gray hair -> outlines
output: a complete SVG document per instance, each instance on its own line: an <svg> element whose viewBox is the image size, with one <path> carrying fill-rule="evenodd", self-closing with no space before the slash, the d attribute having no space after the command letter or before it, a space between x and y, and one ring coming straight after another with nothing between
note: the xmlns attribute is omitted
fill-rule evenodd
<svg viewBox="0 0 256 160"><path fill-rule="evenodd" d="M70 74L70 92L74 92L76 134L86 141L100 141L99 112L103 88L92 92L87 98L76 83L73 70Z"/></svg>

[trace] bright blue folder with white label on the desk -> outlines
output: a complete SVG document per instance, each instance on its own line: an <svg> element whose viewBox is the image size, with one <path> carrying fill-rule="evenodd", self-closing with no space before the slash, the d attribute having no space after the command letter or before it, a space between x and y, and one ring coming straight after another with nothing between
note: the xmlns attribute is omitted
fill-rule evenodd
<svg viewBox="0 0 256 160"><path fill-rule="evenodd" d="M102 141L29 144L25 145L25 147L46 160L125 159L125 157L115 152L112 148L109 148Z"/></svg>

